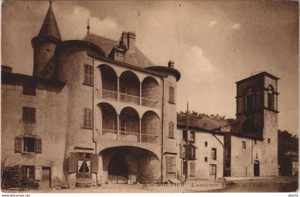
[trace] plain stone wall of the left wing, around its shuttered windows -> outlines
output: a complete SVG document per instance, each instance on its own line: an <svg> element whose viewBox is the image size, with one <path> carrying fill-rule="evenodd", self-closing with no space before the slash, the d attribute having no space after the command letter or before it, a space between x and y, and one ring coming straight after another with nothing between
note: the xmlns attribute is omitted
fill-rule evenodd
<svg viewBox="0 0 300 197"><path fill-rule="evenodd" d="M51 167L51 180L66 181L66 87L38 84L36 96L22 95L21 85L1 85L1 161L5 165ZM36 108L36 123L22 121L22 107ZM15 153L15 137L40 137L41 154ZM23 149L23 147L22 147Z"/></svg>

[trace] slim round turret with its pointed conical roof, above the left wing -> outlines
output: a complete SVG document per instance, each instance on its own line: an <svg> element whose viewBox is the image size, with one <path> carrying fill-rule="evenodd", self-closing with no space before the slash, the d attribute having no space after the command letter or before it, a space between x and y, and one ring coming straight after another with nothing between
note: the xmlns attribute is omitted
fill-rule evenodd
<svg viewBox="0 0 300 197"><path fill-rule="evenodd" d="M35 77L53 80L58 77L56 48L59 43L61 43L61 35L50 1L39 35L31 40L34 48Z"/></svg>

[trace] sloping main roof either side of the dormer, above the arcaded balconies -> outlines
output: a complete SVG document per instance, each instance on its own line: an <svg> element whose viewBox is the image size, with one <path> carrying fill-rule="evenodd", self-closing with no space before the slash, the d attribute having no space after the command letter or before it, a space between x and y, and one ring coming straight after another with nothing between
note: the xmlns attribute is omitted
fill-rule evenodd
<svg viewBox="0 0 300 197"><path fill-rule="evenodd" d="M93 33L87 33L84 37L84 41L93 43L94 45L104 50L106 58L109 58L109 53L114 48L114 46L119 43L119 41L114 41L109 38L97 36ZM144 53L142 53L141 50L139 50L139 48L137 47L135 48L134 52L126 53L124 63L136 65L141 68L154 66L154 63L152 63L151 60L149 60L149 58L147 58L146 55L144 55Z"/></svg>

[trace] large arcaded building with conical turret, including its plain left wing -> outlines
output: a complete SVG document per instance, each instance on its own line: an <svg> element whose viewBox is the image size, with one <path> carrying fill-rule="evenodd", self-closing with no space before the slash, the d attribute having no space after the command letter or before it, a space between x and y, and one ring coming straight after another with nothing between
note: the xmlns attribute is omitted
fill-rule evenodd
<svg viewBox="0 0 300 197"><path fill-rule="evenodd" d="M50 4L32 39L34 75L2 72L2 161L42 187L177 179L168 134L180 73L154 66L135 33L120 39L61 41ZM120 48L124 58L111 55Z"/></svg>

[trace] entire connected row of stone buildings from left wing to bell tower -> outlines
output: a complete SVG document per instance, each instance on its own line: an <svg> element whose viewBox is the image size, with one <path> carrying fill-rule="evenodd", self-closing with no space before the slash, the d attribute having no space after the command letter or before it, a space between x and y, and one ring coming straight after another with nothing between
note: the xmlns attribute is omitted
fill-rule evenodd
<svg viewBox="0 0 300 197"><path fill-rule="evenodd" d="M33 75L2 66L1 160L41 187L278 175L273 75L237 82L235 122L186 130L181 74L173 61L154 65L135 33L112 41L88 26L82 40L62 41L50 4L31 45Z"/></svg>

